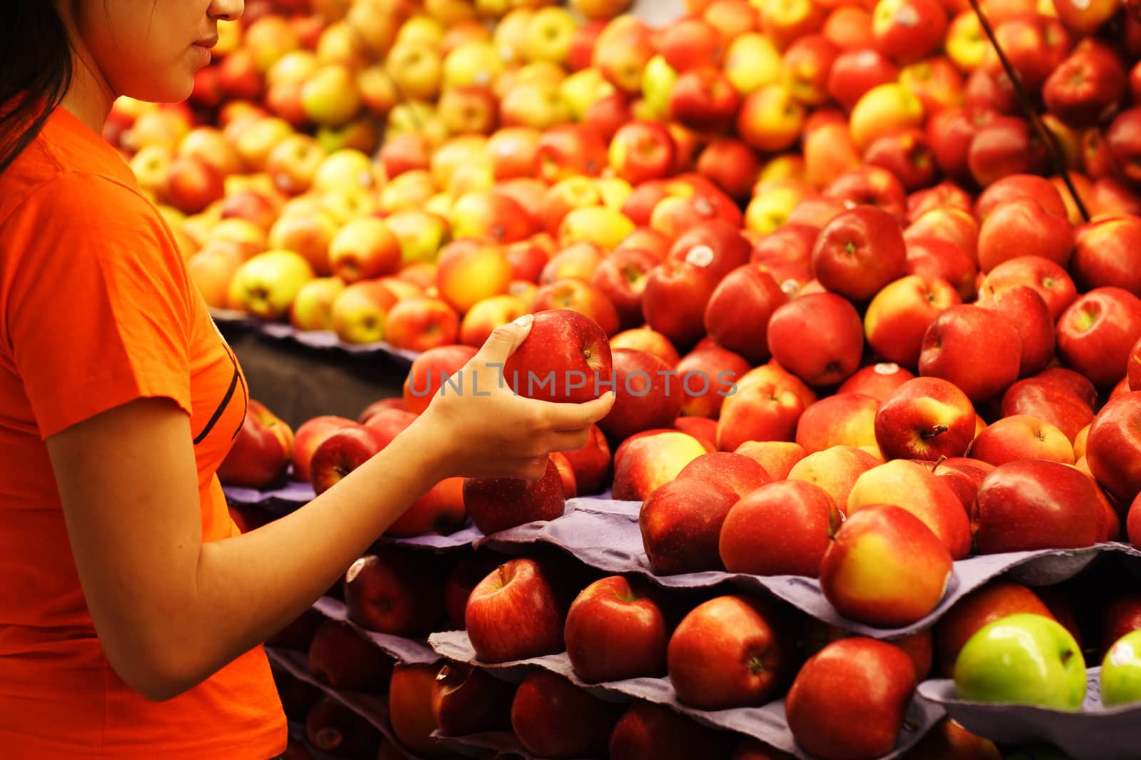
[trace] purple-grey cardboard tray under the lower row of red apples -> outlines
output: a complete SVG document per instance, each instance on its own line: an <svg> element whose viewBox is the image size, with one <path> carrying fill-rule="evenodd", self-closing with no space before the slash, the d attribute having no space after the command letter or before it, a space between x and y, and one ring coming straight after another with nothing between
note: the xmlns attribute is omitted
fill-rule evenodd
<svg viewBox="0 0 1141 760"><path fill-rule="evenodd" d="M669 706L694 720L719 728L752 736L769 746L787 752L801 760L812 760L812 757L801 750L788 730L785 720L784 700L777 700L759 708L735 708L730 710L698 710L678 701L669 678L631 678L605 684L585 684L570 667L566 652L560 654L529 657L515 662L489 664L480 662L466 631L445 631L432 634L428 638L432 648L450 660L471 663L488 672L518 683L532 668L543 668L568 679L574 685L608 702L632 702L644 700ZM944 716L938 704L920 698L917 695L907 708L907 718L896 750L883 755L882 760L900 758L914 746L928 730Z"/></svg>

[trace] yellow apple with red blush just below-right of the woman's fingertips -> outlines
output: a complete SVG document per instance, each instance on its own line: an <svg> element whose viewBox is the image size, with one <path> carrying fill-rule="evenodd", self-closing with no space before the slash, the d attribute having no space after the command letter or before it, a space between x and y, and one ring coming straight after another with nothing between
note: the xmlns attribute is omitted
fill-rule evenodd
<svg viewBox="0 0 1141 760"><path fill-rule="evenodd" d="M620 501L645 501L703 453L707 451L701 441L678 430L636 433L614 451L613 496Z"/></svg>

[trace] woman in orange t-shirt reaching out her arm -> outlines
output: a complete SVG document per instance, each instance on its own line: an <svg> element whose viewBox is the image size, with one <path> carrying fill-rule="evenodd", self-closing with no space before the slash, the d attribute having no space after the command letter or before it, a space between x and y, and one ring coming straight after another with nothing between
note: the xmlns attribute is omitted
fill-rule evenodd
<svg viewBox="0 0 1141 760"><path fill-rule="evenodd" d="M102 140L121 95L173 101L242 0L0 3L0 755L266 760L260 643L448 476L537 477L613 394L515 397L487 365L305 508L248 534L215 469L244 379L170 231ZM479 371L483 369L484 371Z"/></svg>

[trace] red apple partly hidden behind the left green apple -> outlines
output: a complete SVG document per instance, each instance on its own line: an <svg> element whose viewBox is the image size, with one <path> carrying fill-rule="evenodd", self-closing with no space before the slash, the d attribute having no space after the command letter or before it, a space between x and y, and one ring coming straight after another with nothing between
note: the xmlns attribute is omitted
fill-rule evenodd
<svg viewBox="0 0 1141 760"><path fill-rule="evenodd" d="M937 672L950 678L955 657L974 631L1015 612L1053 618L1033 589L1003 579L988 581L958 599L934 626Z"/></svg>

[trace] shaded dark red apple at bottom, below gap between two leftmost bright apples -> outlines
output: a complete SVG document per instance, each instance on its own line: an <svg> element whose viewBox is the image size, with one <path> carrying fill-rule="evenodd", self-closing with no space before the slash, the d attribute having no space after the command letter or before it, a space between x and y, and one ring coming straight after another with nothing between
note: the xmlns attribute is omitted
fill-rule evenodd
<svg viewBox="0 0 1141 760"><path fill-rule="evenodd" d="M565 677L536 668L516 689L511 728L535 757L602 757L622 711L621 703L600 700Z"/></svg>

